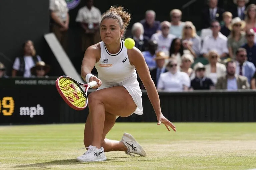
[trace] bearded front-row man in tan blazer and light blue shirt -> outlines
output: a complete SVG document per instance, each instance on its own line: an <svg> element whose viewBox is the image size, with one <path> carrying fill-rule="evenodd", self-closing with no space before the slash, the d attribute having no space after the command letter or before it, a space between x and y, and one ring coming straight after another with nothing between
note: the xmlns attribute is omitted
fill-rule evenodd
<svg viewBox="0 0 256 170"><path fill-rule="evenodd" d="M245 76L236 73L236 63L228 61L226 63L227 75L218 78L215 88L221 90L249 89L249 84Z"/></svg>

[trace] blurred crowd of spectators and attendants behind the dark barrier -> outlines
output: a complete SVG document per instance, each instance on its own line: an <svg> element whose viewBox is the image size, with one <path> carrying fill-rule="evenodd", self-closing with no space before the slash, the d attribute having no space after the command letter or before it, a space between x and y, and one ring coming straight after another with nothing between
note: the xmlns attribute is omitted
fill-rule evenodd
<svg viewBox="0 0 256 170"><path fill-rule="evenodd" d="M70 22L82 29L81 55L74 64L79 73L85 50L101 41L99 22L104 13L93 0L85 2L71 21L65 0L49 1L49 29L66 53L72 53L68 49ZM249 0L224 2L206 0L197 9L201 24L194 24L195 19L183 20L181 9L170 10L168 21L156 20L158 14L148 9L141 11L141 20L131 23L125 36L134 39L142 52L158 91L256 89L256 5ZM54 63L45 63L31 40L20 48L21 55L15 56L9 75L0 60L0 78L47 78ZM92 73L97 75L97 70ZM144 89L139 77L138 81Z"/></svg>

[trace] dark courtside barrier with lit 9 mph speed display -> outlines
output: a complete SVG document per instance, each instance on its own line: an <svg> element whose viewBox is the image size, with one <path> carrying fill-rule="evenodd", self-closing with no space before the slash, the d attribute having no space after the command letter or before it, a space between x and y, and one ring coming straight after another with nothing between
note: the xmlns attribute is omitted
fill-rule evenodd
<svg viewBox="0 0 256 170"><path fill-rule="evenodd" d="M58 94L55 80L0 79L0 124L85 122L88 108L71 109ZM161 92L159 96L162 113L173 122L256 121L255 91ZM142 102L143 115L118 118L117 122L156 122L146 91Z"/></svg>

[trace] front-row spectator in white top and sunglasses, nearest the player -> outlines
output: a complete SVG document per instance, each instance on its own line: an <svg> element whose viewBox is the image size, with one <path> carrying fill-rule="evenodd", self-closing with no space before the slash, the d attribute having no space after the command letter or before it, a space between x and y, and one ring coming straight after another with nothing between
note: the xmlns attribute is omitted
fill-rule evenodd
<svg viewBox="0 0 256 170"><path fill-rule="evenodd" d="M162 73L158 80L157 90L165 91L187 91L190 87L189 76L177 69L177 60L170 59L166 68L168 72Z"/></svg>

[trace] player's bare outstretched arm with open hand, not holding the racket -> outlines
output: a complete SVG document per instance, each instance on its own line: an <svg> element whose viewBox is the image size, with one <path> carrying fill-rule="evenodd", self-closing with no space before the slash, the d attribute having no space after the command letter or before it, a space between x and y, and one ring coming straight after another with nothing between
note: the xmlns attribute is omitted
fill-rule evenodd
<svg viewBox="0 0 256 170"><path fill-rule="evenodd" d="M129 56L130 63L135 66L138 75L144 87L146 88L149 100L156 113L156 117L158 120L157 124L160 125L161 123L163 123L168 130L170 130L168 127L170 126L174 131L176 131L176 127L170 121L168 121L168 119L166 119L161 112L159 96L155 84L151 79L148 66L145 62L142 53L137 48L128 49L127 53Z"/></svg>

